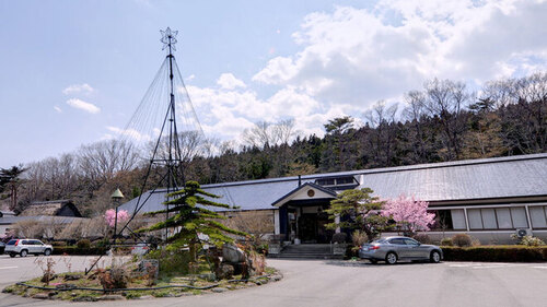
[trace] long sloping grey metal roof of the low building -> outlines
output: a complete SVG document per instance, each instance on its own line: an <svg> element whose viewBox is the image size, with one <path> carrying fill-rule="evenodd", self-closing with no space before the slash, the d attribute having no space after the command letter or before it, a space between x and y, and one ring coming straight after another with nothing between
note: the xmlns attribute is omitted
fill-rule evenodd
<svg viewBox="0 0 547 307"><path fill-rule="evenodd" d="M301 181L349 175L356 176L360 188L369 187L381 198L405 193L426 201L452 201L547 196L547 153L305 175ZM272 203L298 187L299 177L201 186L222 196L220 202L242 210L274 209ZM165 190L156 190L140 212L164 209L164 194ZM120 208L132 212L136 203L132 199Z"/></svg>

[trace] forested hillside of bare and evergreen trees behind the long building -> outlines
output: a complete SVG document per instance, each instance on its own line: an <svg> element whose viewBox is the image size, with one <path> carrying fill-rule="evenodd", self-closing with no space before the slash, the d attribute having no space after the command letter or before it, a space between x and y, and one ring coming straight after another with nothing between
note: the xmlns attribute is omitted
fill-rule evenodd
<svg viewBox="0 0 547 307"><path fill-rule="evenodd" d="M324 137L299 135L298 120L258 122L242 134L241 146L181 134L185 179L212 184L547 152L547 72L492 81L478 93L431 80L399 104L379 102L330 119ZM83 145L16 174L3 169L0 192L15 210L35 200L73 199L84 214L100 214L116 187L128 198L140 193L149 152L117 140ZM150 187L161 173L152 169Z"/></svg>

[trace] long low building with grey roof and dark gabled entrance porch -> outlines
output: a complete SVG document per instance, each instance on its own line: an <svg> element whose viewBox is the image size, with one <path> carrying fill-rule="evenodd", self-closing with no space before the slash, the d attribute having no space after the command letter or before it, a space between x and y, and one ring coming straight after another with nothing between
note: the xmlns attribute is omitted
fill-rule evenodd
<svg viewBox="0 0 547 307"><path fill-rule="evenodd" d="M429 235L437 239L467 233L482 244L501 244L516 229L547 239L546 153L202 186L243 214L267 214L274 234L301 243L330 241L324 210L339 191L365 187L382 199L406 194L428 201L439 222ZM142 199L149 200L140 213L158 211L165 191L148 191ZM121 209L132 212L136 204L133 199Z"/></svg>

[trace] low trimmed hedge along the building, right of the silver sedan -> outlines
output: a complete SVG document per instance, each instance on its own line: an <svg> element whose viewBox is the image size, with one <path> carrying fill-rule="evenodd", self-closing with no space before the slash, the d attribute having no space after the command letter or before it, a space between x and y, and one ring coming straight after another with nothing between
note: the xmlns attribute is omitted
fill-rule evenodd
<svg viewBox="0 0 547 307"><path fill-rule="evenodd" d="M547 261L547 246L442 246L445 261L537 262Z"/></svg>

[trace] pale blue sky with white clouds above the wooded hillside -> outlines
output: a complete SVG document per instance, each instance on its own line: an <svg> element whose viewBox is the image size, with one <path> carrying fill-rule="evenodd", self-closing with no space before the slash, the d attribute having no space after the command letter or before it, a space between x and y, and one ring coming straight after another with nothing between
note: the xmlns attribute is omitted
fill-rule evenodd
<svg viewBox="0 0 547 307"><path fill-rule="evenodd" d="M0 167L115 137L175 52L205 134L324 133L432 78L479 88L547 69L547 1L0 0ZM404 106L404 105L403 105Z"/></svg>

